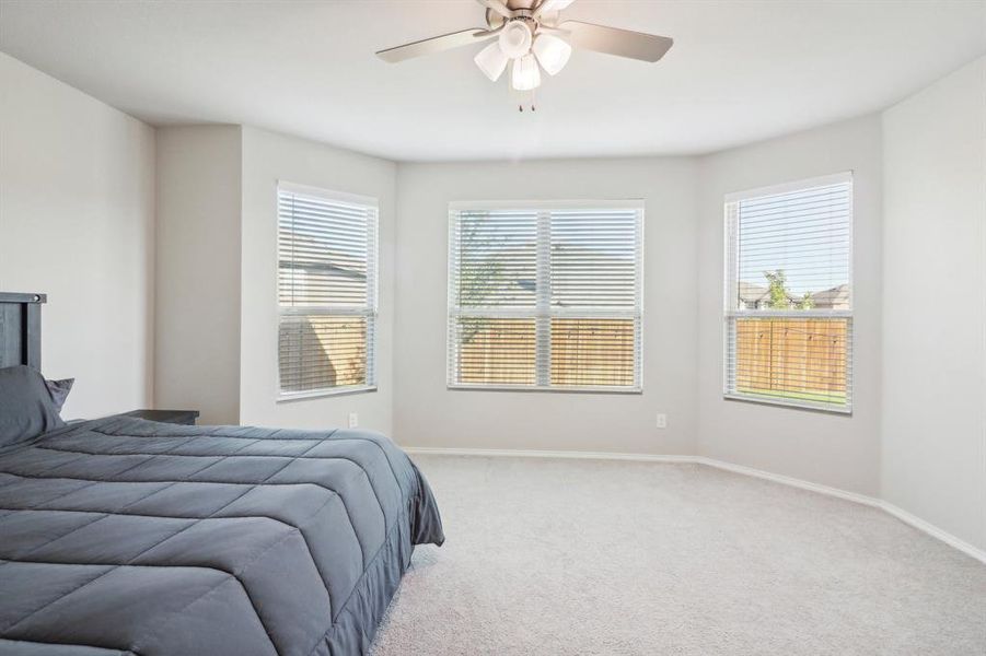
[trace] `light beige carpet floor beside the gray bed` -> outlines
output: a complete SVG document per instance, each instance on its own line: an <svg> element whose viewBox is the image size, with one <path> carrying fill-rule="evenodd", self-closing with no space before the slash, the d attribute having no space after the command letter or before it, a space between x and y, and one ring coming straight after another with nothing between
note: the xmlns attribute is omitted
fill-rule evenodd
<svg viewBox="0 0 986 656"><path fill-rule="evenodd" d="M445 525L373 656L986 654L986 565L697 465L417 456Z"/></svg>

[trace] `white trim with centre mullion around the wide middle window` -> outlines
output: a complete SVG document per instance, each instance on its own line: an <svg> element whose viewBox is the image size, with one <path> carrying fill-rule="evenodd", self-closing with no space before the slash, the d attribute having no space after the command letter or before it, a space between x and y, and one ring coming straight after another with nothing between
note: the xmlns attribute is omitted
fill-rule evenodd
<svg viewBox="0 0 986 656"><path fill-rule="evenodd" d="M497 313L488 313L503 318L533 318L535 320L535 384L534 385L511 385L503 383L460 383L455 380L456 363L457 363L457 341L454 337L453 321L456 317L477 316L476 313L463 313L462 307L456 304L456 282L459 270L453 271L452 263L456 253L456 220L457 214L463 211L484 211L484 210L515 210L532 211L538 214L537 218L537 243L535 249L537 259L544 262L550 261L550 238L544 242L544 224L550 221L550 212L553 210L619 210L630 209L637 213L637 233L635 244L635 268L636 268L636 308L633 314L626 314L619 318L633 318L637 321L637 330L635 332L635 384L630 386L615 385L550 385L550 350L548 347L547 358L542 355L544 350L544 341L550 342L550 330L538 330L536 325L538 319L547 319L558 317L570 318L591 318L598 315L599 318L612 318L613 315L620 314L614 312L599 311L596 313L590 311L572 311L569 313L552 311L550 308L550 285L535 285L535 308L532 311L507 309ZM448 225L448 244L445 262L446 276L446 302L445 311L445 388L449 390L472 390L472 391L533 391L533 393L556 393L556 394L615 394L615 395L641 395L643 394L643 335L645 335L645 309L643 309L643 226L645 226L645 200L642 198L630 199L590 199L590 200L485 200L485 201L451 201L449 203L449 225ZM548 233L549 234L549 233ZM544 243L543 243L544 242ZM546 269L545 269L546 267ZM550 274L550 265L538 263L538 280L547 273ZM482 315L483 313L480 313ZM538 365L538 361L545 362L547 368L547 384L542 384L545 379L545 371Z"/></svg>

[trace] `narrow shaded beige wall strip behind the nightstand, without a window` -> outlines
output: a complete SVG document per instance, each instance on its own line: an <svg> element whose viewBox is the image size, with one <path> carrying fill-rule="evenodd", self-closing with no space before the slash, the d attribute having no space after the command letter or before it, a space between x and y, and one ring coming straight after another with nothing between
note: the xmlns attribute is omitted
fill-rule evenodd
<svg viewBox="0 0 986 656"><path fill-rule="evenodd" d="M154 405L240 419L239 126L158 129Z"/></svg>

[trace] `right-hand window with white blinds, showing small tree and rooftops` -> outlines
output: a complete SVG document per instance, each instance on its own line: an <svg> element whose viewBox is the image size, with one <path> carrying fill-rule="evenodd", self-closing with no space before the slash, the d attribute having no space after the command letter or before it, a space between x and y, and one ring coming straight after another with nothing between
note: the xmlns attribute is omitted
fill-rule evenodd
<svg viewBox="0 0 986 656"><path fill-rule="evenodd" d="M850 412L852 178L726 199L728 398Z"/></svg>

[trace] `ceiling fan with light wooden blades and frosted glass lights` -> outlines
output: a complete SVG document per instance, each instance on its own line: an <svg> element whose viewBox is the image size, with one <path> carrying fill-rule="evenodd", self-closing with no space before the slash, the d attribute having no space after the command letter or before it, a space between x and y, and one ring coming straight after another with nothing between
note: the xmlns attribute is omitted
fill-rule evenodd
<svg viewBox="0 0 986 656"><path fill-rule="evenodd" d="M476 0L486 8L486 27L463 30L381 50L376 55L392 63L451 48L492 42L474 58L487 78L496 82L513 62L510 84L518 91L541 86L541 69L557 74L571 57L584 48L618 57L658 61L674 43L666 36L629 30L561 21L559 12L573 0ZM496 39L496 40L494 40Z"/></svg>

